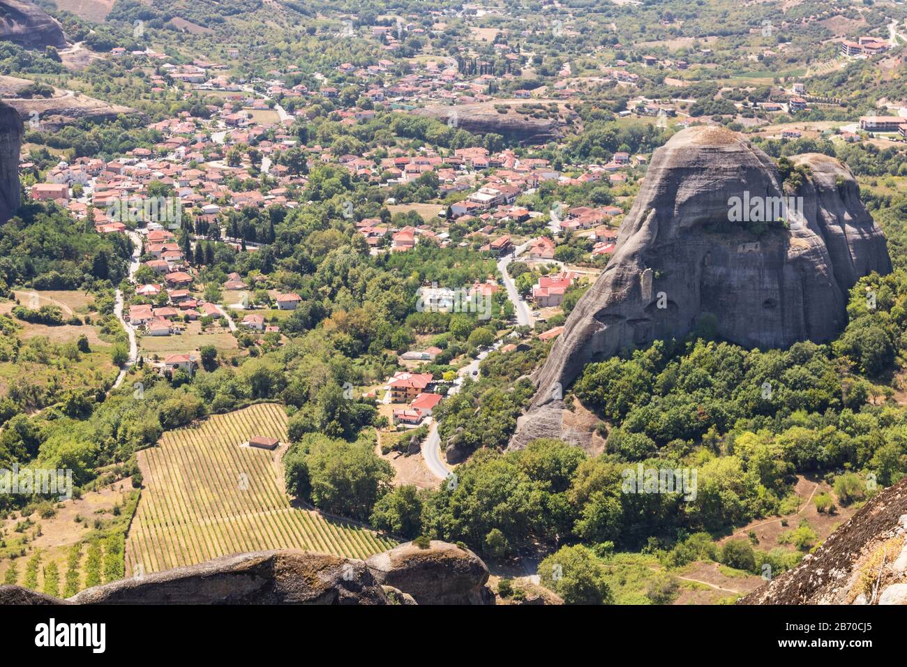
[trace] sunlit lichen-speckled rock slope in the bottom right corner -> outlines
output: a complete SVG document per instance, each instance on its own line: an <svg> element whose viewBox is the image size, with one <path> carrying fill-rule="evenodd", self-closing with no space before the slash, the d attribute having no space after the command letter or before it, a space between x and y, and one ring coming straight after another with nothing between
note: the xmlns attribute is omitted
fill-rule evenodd
<svg viewBox="0 0 907 667"><path fill-rule="evenodd" d="M738 604L907 603L907 478L883 489L793 570Z"/></svg>

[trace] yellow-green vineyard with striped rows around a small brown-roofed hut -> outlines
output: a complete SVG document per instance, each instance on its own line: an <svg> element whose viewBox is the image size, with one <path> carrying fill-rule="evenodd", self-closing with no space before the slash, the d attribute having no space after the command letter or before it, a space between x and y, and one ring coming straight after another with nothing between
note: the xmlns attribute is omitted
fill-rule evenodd
<svg viewBox="0 0 907 667"><path fill-rule="evenodd" d="M145 488L126 543L126 575L159 572L227 554L305 549L366 558L394 542L292 505L278 456L240 446L250 436L287 441L275 404L214 415L168 431L139 453Z"/></svg>

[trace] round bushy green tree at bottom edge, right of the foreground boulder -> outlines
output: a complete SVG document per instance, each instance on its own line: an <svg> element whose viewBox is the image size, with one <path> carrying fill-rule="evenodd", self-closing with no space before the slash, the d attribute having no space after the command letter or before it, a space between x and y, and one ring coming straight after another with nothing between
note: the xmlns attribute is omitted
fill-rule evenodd
<svg viewBox="0 0 907 667"><path fill-rule="evenodd" d="M613 603L605 568L581 544L562 546L539 564L541 584L558 593L568 604Z"/></svg>

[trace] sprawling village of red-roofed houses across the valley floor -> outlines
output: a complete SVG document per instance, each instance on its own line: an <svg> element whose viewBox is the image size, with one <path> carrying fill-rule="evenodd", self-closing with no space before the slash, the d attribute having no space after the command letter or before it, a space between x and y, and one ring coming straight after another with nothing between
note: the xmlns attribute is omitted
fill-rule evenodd
<svg viewBox="0 0 907 667"><path fill-rule="evenodd" d="M499 113L526 105L533 116L548 118L553 113L564 121L560 105L575 103L590 86L589 81L572 76L569 63L553 83L514 89L505 99L500 86L516 77L492 74L492 64L482 60L424 59L410 62L408 71L400 74L390 54L404 34L420 31L423 28L418 25L372 27L371 38L382 44L388 58L367 66L337 67L337 73L355 78L355 94L336 85L290 86L285 81L294 74L293 65L268 72L271 78L247 81L229 74L229 64L203 60L175 64L151 48L112 49L108 58L128 56L134 70L155 73L151 74L152 92L177 90L186 96L210 94L220 100L198 113L184 111L152 123L150 129L160 133L161 141L150 148L135 148L107 161L80 157L59 162L30 188L34 200L55 201L99 234L127 233L139 246L141 261L131 268L132 293L125 297L122 314L123 325L138 340L132 364L147 361L169 377L180 371L191 375L200 368L202 348L213 346L230 358L249 345L267 350L283 344L281 321L302 301L299 294L258 272L233 272L220 284L205 284L199 267L210 260L214 242L226 243L237 252L258 252L268 240L249 238L231 221L242 211L270 207L292 211L306 206L303 194L309 173L326 165L387 191L380 217L357 218L352 204L343 212L370 255L406 252L430 243L468 249L498 262L498 275L484 282L424 285L420 299L427 309L456 309L460 290L467 299L479 300L503 292L513 304L513 323L526 328L525 335L550 340L561 333L562 316L557 315L565 295L593 282L615 252L620 221L645 181L650 153L615 150L604 152L600 161L555 165L522 149L490 150L480 145L481 135L475 135L476 145L451 150L423 143L415 150L378 146L364 154L341 153L300 136L296 123L306 120L311 103L330 105L332 116L344 127L373 122L382 113L406 114L433 105L458 109L477 103L502 106ZM498 55L513 63L532 57L509 44L494 46ZM844 40L839 57L870 57L888 48L888 42L873 36ZM709 123L691 115L695 98L651 99L634 91L640 75L688 71L707 64L711 54L711 49L702 47L695 59L618 58L602 67L596 81L610 80L629 95L626 109L616 114L618 123L675 129ZM241 54L230 48L228 56L235 59ZM794 81L771 86L768 101L734 101L733 109L753 119L752 131L767 139L795 141L821 135L848 143L892 143L907 138L907 118L894 115L902 111L897 109L891 116L862 116L820 131L810 123L797 127L798 113L826 103L810 95L804 82ZM775 126L775 115L794 122ZM456 127L455 113L453 121ZM28 170L34 165L21 166ZM392 191L405 185L428 186L434 196L430 201L396 201ZM601 185L614 196L612 203L567 206L558 202L550 209L534 210L527 202L537 201L533 197L551 185ZM452 234L454 227L458 234ZM180 237L186 239L182 242L177 236L180 230L187 231ZM578 242L580 250L576 250ZM507 267L513 261L525 265L525 275L509 273ZM519 336L500 339L494 349L507 353L520 344ZM439 380L418 372L440 351L431 346L406 351L399 358L405 370L366 394L387 407L386 417L399 428L430 425L428 442L435 450L433 409L447 392L478 377L478 366L469 359L458 361L461 369L455 378ZM435 476L447 474L436 451L434 465L429 462L429 467Z"/></svg>

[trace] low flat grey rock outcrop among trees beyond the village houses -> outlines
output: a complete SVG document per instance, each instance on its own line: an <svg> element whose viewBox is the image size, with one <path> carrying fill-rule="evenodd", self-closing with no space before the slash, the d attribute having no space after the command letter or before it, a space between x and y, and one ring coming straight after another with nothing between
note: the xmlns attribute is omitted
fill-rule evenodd
<svg viewBox="0 0 907 667"><path fill-rule="evenodd" d="M501 134L504 139L511 142L538 144L560 138L566 124L565 114L572 116L572 113L565 108L561 108L559 113L552 114L549 118L534 118L529 113L516 113L516 108L528 103L539 102L495 100L471 104L435 104L414 109L411 113L434 118L474 134L488 132ZM499 113L498 109L503 111L504 105L511 108L505 113Z"/></svg>

